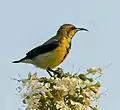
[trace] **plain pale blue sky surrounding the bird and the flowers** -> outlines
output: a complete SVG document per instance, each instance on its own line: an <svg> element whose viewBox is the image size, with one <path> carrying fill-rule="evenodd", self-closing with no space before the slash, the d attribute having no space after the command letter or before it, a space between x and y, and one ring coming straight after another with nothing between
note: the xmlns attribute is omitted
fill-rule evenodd
<svg viewBox="0 0 120 110"><path fill-rule="evenodd" d="M17 83L11 77L29 72L48 74L32 65L12 64L31 48L55 35L60 25L72 23L89 32L79 32L72 50L60 65L65 71L84 71L103 67L112 61L102 76L100 110L118 110L120 103L120 1L119 0L1 0L0 1L0 109L17 110ZM73 68L74 65L74 69Z"/></svg>

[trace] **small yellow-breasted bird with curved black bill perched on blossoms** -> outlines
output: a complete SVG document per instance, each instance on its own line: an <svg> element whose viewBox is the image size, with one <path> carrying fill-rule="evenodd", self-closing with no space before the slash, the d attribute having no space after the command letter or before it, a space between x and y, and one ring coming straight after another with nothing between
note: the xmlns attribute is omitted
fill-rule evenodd
<svg viewBox="0 0 120 110"><path fill-rule="evenodd" d="M50 74L50 71L60 65L70 53L72 38L78 31L88 30L78 28L73 24L63 24L57 30L55 36L27 52L24 58L12 63L33 64L36 67L45 69Z"/></svg>

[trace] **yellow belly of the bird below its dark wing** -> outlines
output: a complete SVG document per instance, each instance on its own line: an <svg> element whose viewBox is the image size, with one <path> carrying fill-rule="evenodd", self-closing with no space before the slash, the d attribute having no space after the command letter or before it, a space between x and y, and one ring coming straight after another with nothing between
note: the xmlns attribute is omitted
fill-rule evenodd
<svg viewBox="0 0 120 110"><path fill-rule="evenodd" d="M41 54L33 59L34 65L42 69L55 68L58 66L66 57L66 47L59 46L55 50Z"/></svg>

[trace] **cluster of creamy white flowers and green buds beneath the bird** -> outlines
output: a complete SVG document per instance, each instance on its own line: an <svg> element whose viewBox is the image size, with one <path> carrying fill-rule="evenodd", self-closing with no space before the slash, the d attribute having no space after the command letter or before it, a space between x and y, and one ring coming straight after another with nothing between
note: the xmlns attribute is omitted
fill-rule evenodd
<svg viewBox="0 0 120 110"><path fill-rule="evenodd" d="M64 73L58 68L50 78L36 73L19 80L19 93L26 110L98 110L101 68L92 67L81 74Z"/></svg>

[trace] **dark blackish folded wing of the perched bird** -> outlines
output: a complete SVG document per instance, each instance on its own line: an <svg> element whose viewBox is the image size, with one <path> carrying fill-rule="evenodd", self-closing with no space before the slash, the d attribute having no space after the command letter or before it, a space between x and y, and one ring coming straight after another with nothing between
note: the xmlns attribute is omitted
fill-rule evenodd
<svg viewBox="0 0 120 110"><path fill-rule="evenodd" d="M31 51L29 51L26 54L27 55L26 57L28 59L34 58L34 57L36 57L40 54L50 52L50 51L56 49L58 46L59 46L59 41L58 40L53 40L53 41L46 42L43 45L38 46L38 47L32 49Z"/></svg>

